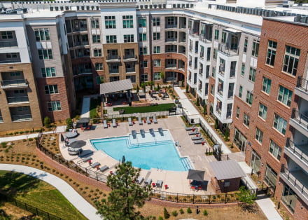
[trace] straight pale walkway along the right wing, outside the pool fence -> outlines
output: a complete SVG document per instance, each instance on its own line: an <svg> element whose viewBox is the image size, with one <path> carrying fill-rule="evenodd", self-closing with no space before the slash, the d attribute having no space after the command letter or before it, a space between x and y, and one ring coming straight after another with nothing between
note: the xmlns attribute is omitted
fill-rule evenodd
<svg viewBox="0 0 308 220"><path fill-rule="evenodd" d="M207 121L200 115L199 111L195 108L195 106L190 102L190 100L184 93L185 90L181 90L180 87L175 87L174 90L176 90L176 93L179 95L179 101L181 102L183 110L186 112L189 118L200 118L200 120L204 123L207 129L209 129L209 131L211 132L211 135L216 138L218 144L221 144L221 149L223 150L223 153L231 153L230 149L228 149L228 146L225 145L221 137L217 135L214 129L211 128L211 125L207 123Z"/></svg>

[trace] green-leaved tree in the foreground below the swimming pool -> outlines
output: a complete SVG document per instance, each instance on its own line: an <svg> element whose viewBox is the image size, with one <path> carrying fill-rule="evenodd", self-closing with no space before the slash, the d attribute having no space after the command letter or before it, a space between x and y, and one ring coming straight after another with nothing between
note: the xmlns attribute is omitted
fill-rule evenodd
<svg viewBox="0 0 308 220"><path fill-rule="evenodd" d="M95 202L98 214L104 219L151 219L144 218L137 208L144 206L149 199L150 186L140 186L136 180L140 169L132 166L131 162L121 163L116 167L116 174L110 174L107 178L107 186L111 188L107 200Z"/></svg>

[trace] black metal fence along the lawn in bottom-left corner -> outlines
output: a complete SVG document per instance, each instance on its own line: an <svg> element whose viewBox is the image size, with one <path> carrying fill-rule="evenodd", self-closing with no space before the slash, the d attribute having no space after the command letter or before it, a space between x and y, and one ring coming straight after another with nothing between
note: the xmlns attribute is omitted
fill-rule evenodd
<svg viewBox="0 0 308 220"><path fill-rule="evenodd" d="M38 207L29 205L27 202L22 202L18 199L10 198L8 195L5 195L3 193L0 193L0 200L4 202L9 202L10 204L15 205L16 207L19 207L21 209L25 209L27 212L31 212L34 215L41 216L43 219L61 220L60 217L55 216L54 214L50 214L49 212L45 212Z"/></svg>

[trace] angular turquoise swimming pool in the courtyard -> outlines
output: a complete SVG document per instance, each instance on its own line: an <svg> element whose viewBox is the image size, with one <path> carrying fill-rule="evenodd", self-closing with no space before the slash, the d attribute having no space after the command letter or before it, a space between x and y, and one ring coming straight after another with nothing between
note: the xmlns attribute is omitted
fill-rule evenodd
<svg viewBox="0 0 308 220"><path fill-rule="evenodd" d="M95 149L104 151L116 160L125 159L132 162L134 167L144 170L151 168L162 170L186 171L190 169L188 158L180 158L169 131L146 132L144 137L138 133L136 138L132 135L123 137L110 137L92 139L91 144Z"/></svg>

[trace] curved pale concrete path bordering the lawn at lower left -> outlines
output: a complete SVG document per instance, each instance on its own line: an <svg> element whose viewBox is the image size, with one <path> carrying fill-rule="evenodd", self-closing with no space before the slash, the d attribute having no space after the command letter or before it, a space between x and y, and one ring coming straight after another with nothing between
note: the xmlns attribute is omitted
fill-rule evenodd
<svg viewBox="0 0 308 220"><path fill-rule="evenodd" d="M0 164L0 170L21 172L27 174L31 177L41 179L48 184L55 186L57 190L64 195L64 197L73 204L76 209L79 210L87 219L102 219L99 214L96 214L97 209L95 209L87 200L85 200L81 195L79 195L69 184L63 179L56 177L53 174L45 172L43 170L38 170L33 167L27 167L24 165L12 165L12 164Z"/></svg>

